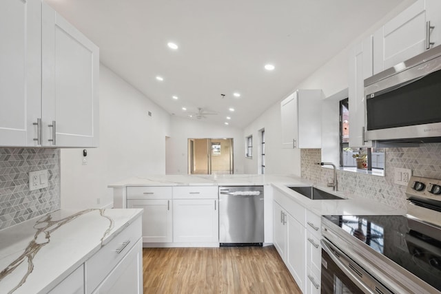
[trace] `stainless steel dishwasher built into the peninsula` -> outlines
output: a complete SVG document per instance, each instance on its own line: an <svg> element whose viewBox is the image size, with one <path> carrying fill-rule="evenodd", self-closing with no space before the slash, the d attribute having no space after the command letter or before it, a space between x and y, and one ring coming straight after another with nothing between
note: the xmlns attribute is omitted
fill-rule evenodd
<svg viewBox="0 0 441 294"><path fill-rule="evenodd" d="M262 246L263 186L219 187L220 246Z"/></svg>

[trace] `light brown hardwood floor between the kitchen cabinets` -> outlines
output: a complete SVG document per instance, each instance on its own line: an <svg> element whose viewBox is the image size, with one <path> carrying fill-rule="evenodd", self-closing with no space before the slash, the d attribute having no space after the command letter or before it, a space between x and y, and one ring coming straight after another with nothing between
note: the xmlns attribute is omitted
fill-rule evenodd
<svg viewBox="0 0 441 294"><path fill-rule="evenodd" d="M144 248L144 293L302 293L274 246Z"/></svg>

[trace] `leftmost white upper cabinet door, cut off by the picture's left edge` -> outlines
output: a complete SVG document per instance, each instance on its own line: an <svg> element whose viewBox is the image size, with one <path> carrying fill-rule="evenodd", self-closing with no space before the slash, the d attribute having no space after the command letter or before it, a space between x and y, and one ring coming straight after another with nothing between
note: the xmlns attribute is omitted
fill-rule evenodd
<svg viewBox="0 0 441 294"><path fill-rule="evenodd" d="M0 146L37 145L41 1L0 1Z"/></svg>

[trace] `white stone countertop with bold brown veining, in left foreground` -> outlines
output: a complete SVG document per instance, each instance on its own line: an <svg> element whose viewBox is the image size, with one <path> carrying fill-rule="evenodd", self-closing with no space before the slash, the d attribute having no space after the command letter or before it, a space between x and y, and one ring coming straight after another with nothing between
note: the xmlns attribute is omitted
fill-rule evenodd
<svg viewBox="0 0 441 294"><path fill-rule="evenodd" d="M47 293L142 211L61 209L1 230L0 293Z"/></svg>

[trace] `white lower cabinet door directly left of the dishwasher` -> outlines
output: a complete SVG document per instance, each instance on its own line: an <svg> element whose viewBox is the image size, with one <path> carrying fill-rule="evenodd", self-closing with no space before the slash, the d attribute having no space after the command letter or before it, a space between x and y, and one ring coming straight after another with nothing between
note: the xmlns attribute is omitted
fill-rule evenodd
<svg viewBox="0 0 441 294"><path fill-rule="evenodd" d="M173 200L173 242L219 242L218 200Z"/></svg>

